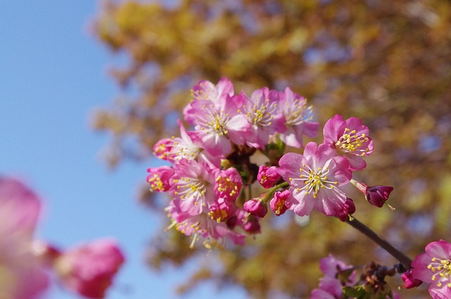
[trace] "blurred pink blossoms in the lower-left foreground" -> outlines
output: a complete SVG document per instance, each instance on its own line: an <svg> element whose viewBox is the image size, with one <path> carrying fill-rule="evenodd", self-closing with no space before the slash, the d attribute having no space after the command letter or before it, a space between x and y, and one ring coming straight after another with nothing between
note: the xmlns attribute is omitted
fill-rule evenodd
<svg viewBox="0 0 451 299"><path fill-rule="evenodd" d="M33 238L41 201L16 179L0 177L1 298L40 298L50 283L48 270L70 291L104 298L124 261L117 244L94 241L56 250Z"/></svg>

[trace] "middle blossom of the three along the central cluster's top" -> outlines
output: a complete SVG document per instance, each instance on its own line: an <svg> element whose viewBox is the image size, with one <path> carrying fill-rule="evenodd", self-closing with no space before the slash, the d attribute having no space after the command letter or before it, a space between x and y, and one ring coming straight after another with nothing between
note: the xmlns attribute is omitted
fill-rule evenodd
<svg viewBox="0 0 451 299"><path fill-rule="evenodd" d="M242 112L251 124L250 134L247 136L246 144L254 148L265 148L269 137L276 133L285 132L285 117L278 108L280 96L278 91L269 90L268 87L257 89L250 98L244 93L245 98Z"/></svg>

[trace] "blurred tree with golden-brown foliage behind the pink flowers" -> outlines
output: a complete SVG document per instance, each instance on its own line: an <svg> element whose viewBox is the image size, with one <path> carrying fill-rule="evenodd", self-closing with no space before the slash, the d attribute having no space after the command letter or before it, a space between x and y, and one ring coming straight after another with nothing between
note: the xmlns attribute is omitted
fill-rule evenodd
<svg viewBox="0 0 451 299"><path fill-rule="evenodd" d="M350 189L357 218L411 257L430 241L451 241L450 1L106 1L94 27L129 58L111 71L128 96L94 120L113 135L111 165L148 158L157 140L178 134L175 119L199 79L228 77L235 92L289 86L309 98L321 124L341 114L370 128L375 151L354 179L395 186L396 210L373 208ZM142 198L162 211L164 199L151 195ZM216 265L199 267L181 290L211 279L240 284L254 298L302 298L317 286L328 253L354 265L396 262L319 213L305 227L267 218L261 235L208 257ZM152 242L149 265L198 254L172 232Z"/></svg>

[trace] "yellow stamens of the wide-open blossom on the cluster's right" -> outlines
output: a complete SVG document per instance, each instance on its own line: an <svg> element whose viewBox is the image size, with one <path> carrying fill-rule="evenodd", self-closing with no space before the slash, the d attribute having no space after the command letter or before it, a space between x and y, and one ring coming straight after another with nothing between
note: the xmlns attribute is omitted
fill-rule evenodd
<svg viewBox="0 0 451 299"><path fill-rule="evenodd" d="M305 190L307 194L313 192L313 198L318 197L319 190L321 188L334 189L338 182L328 181L327 174L329 172L329 167L318 167L317 171L312 170L309 165L302 165L303 168L299 168L301 174L299 179L292 179L293 181L302 181L305 186L302 188L297 188L298 191ZM306 170L307 168L307 170Z"/></svg>

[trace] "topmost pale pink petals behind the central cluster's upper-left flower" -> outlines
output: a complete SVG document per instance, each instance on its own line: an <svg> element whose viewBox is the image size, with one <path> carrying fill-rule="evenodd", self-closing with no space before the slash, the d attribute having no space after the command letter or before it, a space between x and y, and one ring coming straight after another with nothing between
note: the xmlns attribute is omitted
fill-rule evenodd
<svg viewBox="0 0 451 299"><path fill-rule="evenodd" d="M199 80L199 82L192 87L191 91L192 101L206 100L217 103L223 101L227 96L233 96L233 84L226 78L221 78L216 85L206 80ZM190 125L195 125L195 117L191 103L185 107L183 115Z"/></svg>

